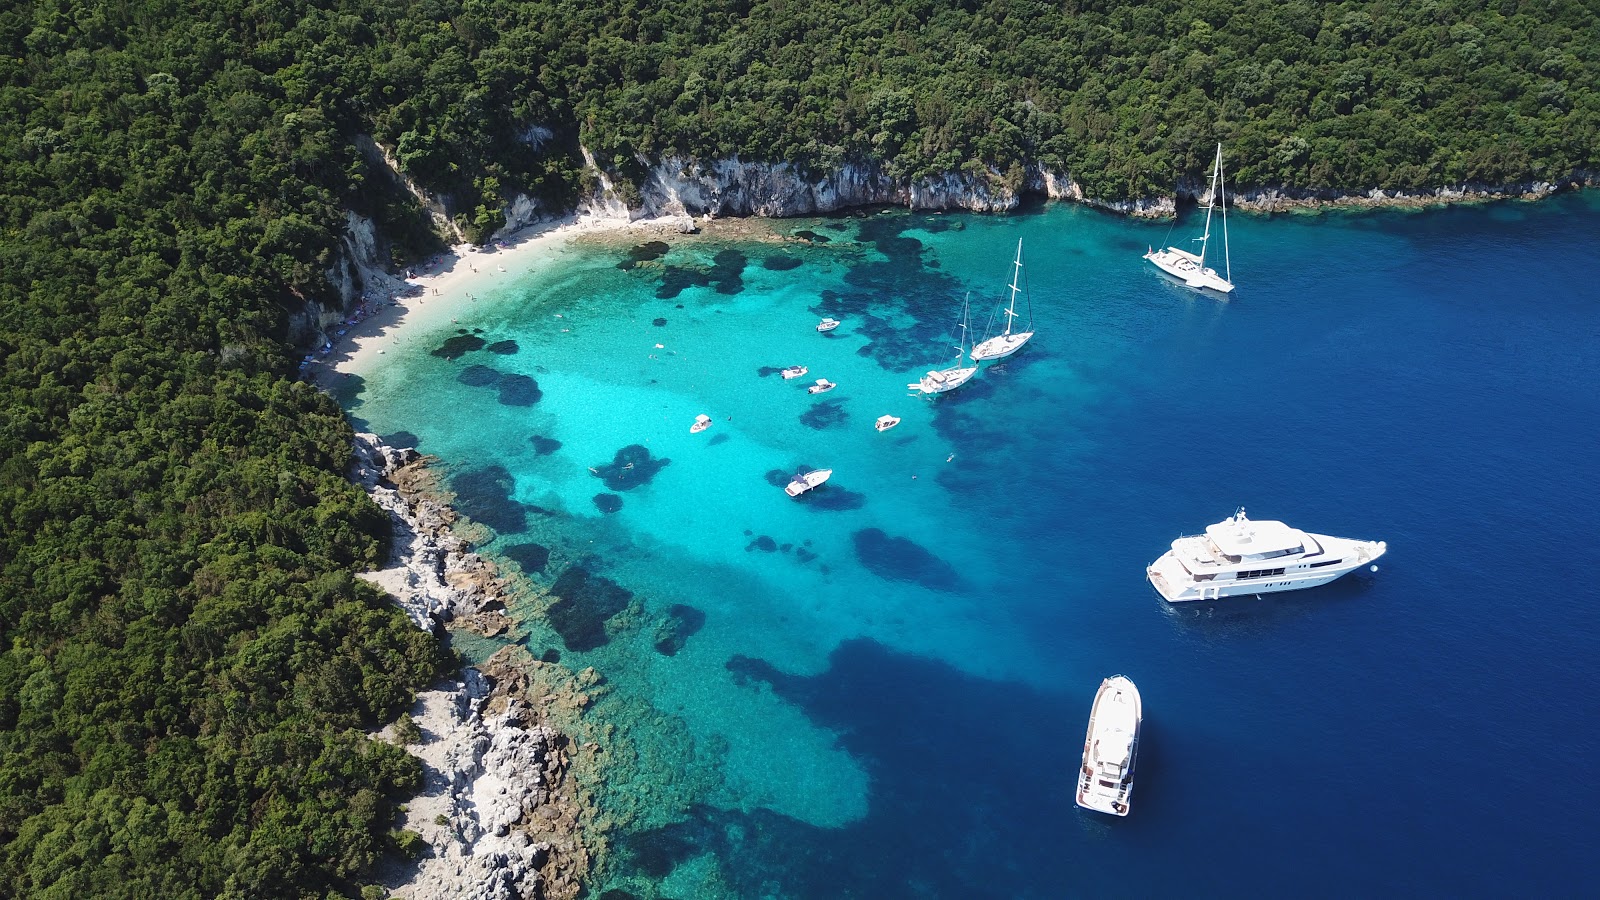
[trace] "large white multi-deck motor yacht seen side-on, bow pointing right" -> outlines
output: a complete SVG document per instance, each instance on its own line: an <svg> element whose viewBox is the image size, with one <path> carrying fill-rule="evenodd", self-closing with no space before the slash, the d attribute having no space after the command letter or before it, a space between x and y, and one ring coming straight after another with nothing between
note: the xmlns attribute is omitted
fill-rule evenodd
<svg viewBox="0 0 1600 900"><path fill-rule="evenodd" d="M1170 604L1326 585L1374 562L1389 544L1314 535L1283 522L1251 522L1245 508L1203 535L1178 538L1146 569ZM1376 565L1373 567L1376 569Z"/></svg>

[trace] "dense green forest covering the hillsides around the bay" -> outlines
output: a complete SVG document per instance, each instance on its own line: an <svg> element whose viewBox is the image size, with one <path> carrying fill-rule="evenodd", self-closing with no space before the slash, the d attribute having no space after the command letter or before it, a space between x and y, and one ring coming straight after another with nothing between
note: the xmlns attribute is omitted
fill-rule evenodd
<svg viewBox="0 0 1600 900"><path fill-rule="evenodd" d="M1592 6L1592 5L1589 5ZM482 237L579 144L1166 192L1600 168L1574 0L16 0L0 10L0 895L354 895L448 660L293 378L344 210ZM538 130L534 128L538 127ZM536 136L536 139L530 139Z"/></svg>

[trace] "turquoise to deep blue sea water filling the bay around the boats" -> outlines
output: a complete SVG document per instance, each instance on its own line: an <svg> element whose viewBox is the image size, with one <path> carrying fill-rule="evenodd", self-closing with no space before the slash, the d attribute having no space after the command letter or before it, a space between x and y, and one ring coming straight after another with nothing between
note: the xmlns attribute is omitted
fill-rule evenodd
<svg viewBox="0 0 1600 900"><path fill-rule="evenodd" d="M357 424L440 456L550 591L530 652L648 713L595 895L1581 890L1600 197L1229 226L1227 299L1141 259L1166 223L1072 205L578 240L362 373ZM907 396L1018 239L1037 336ZM794 501L800 466L835 474ZM1165 604L1144 567L1235 506L1389 554ZM1144 737L1110 820L1072 780L1118 673Z"/></svg>

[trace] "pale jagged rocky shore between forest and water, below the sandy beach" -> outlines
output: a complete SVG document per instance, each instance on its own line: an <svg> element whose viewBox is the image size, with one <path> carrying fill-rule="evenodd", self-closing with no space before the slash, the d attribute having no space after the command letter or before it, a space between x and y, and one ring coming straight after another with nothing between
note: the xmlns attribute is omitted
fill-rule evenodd
<svg viewBox="0 0 1600 900"><path fill-rule="evenodd" d="M437 495L427 458L355 437L352 477L389 512L389 565L365 573L424 631L446 623L480 634L512 628L512 583L453 532L456 512ZM574 748L555 722L576 716L592 669L541 663L515 647L461 679L418 695L410 719L379 732L422 761L424 791L405 807L422 836L421 858L382 873L406 900L570 900L582 892L590 855L587 810L571 777Z"/></svg>

